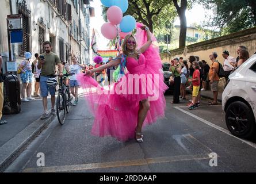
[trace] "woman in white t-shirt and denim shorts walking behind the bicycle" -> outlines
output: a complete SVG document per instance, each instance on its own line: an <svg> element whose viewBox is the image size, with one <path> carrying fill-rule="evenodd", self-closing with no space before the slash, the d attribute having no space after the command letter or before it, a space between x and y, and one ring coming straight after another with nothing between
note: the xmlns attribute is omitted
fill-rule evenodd
<svg viewBox="0 0 256 184"><path fill-rule="evenodd" d="M75 101L73 105L77 105L78 103L78 81L77 81L77 74L81 73L81 69L84 67L82 64L77 62L77 57L72 56L71 60L73 64L70 66L70 73L75 74L70 76L70 90L72 95L75 97Z"/></svg>

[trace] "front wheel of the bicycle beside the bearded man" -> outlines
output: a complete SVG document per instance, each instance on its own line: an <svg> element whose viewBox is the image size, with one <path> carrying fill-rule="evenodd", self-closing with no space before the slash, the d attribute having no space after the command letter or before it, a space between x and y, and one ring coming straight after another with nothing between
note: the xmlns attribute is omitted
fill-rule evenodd
<svg viewBox="0 0 256 184"><path fill-rule="evenodd" d="M63 125L65 122L65 115L66 115L66 100L64 95L59 93L57 97L57 104L56 104L56 113L59 120L60 125Z"/></svg>

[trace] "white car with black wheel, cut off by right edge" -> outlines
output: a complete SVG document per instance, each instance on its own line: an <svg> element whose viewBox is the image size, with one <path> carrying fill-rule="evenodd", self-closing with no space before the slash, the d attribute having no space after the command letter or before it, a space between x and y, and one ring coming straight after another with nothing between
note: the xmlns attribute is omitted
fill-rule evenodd
<svg viewBox="0 0 256 184"><path fill-rule="evenodd" d="M241 138L256 136L256 54L233 74L222 94L222 109L232 135Z"/></svg>

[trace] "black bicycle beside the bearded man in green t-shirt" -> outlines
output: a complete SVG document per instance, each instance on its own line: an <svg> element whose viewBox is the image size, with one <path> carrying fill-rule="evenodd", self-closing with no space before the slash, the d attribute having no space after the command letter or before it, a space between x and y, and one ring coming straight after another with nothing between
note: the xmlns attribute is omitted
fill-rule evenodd
<svg viewBox="0 0 256 184"><path fill-rule="evenodd" d="M54 75L54 76L59 76L60 77L60 82L59 82L59 93L57 97L57 102L56 102L56 114L59 120L60 125L63 125L65 122L65 116L66 112L69 112L69 107L71 104L71 97L70 97L70 87L64 83L63 76L70 76L74 74L63 74L62 76L60 75Z"/></svg>

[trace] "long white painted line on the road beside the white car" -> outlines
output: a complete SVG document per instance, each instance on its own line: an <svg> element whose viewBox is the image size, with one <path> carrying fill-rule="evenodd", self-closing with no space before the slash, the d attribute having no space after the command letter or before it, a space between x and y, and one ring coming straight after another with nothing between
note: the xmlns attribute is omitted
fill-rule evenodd
<svg viewBox="0 0 256 184"><path fill-rule="evenodd" d="M227 129L224 129L224 128L219 127L219 126L217 126L217 125L215 125L215 124L212 124L211 122L209 122L209 121L207 121L207 120L204 120L203 118L198 117L198 116L196 116L196 115L194 115L194 114L192 114L192 113L189 113L188 111L186 111L186 110L184 110L184 109L181 109L181 108L178 107L178 106L175 106L174 108L180 110L181 112L183 112L183 113L185 113L185 114L188 114L189 116L192 116L193 118L196 118L197 120L199 120L199 121L201 121L201 122L204 122L205 124L211 126L212 128L215 128L215 129L217 129L217 130L219 130L219 131L221 131L221 132L224 132L224 133L226 133L227 135L230 135L230 136L232 136L232 137L235 137L236 139L242 141L243 143L246 143L246 144L250 145L251 147L256 148L256 144L255 144L255 143L252 143L252 142L247 141L247 140L240 139L239 137L236 137L236 136L232 135L232 134L230 133L230 131L228 131Z"/></svg>

